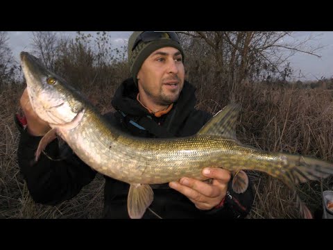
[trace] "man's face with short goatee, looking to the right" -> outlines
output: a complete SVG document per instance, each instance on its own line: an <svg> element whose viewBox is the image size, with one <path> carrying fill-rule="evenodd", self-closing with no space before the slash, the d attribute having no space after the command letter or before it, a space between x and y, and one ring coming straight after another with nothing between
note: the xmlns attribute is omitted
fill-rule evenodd
<svg viewBox="0 0 333 250"><path fill-rule="evenodd" d="M151 53L137 74L139 91L159 105L177 101L184 85L185 69L182 54L173 47Z"/></svg>

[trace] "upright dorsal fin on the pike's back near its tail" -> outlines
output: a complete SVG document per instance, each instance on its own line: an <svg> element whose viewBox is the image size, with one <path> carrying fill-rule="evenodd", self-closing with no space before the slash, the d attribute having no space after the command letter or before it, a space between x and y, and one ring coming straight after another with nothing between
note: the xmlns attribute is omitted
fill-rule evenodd
<svg viewBox="0 0 333 250"><path fill-rule="evenodd" d="M225 106L198 131L198 134L219 135L226 139L237 140L236 121L240 110L241 106L237 103Z"/></svg>

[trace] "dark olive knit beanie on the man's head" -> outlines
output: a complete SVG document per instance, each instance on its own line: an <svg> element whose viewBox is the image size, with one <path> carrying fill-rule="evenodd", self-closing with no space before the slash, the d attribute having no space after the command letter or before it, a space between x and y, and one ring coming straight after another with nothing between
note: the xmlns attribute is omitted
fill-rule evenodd
<svg viewBox="0 0 333 250"><path fill-rule="evenodd" d="M153 53L153 51L160 49L162 47L174 47L182 53L182 60L184 60L184 51L182 46L175 40L171 40L167 32L163 33L162 38L150 42L139 42L135 49L132 51L133 46L135 45L135 40L144 33L145 31L135 31L128 40L128 64L130 65L130 74L132 74L135 85L137 85L137 73L141 68L144 60Z"/></svg>

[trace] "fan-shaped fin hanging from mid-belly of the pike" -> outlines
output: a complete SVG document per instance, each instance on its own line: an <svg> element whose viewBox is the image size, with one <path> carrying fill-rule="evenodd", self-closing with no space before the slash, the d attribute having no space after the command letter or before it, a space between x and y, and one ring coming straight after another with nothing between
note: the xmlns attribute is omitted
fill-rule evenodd
<svg viewBox="0 0 333 250"><path fill-rule="evenodd" d="M153 202L154 193L148 184L131 184L128 192L128 215L132 219L141 219L146 208Z"/></svg>

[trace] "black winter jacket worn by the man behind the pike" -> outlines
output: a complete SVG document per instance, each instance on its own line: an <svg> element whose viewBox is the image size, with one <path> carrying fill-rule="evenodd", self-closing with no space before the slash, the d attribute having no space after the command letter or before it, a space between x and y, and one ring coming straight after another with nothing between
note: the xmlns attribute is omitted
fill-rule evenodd
<svg viewBox="0 0 333 250"><path fill-rule="evenodd" d="M112 100L117 111L105 114L111 124L125 133L143 138L184 137L194 135L212 117L194 108L195 88L186 81L178 101L161 117L155 117L137 101L137 92L132 78L124 81ZM71 199L96 176L94 169L83 163L66 143L60 144L58 140L51 142L40 160L33 163L41 137L21 131L19 167L36 203L56 205ZM169 188L168 183L152 185L152 188L153 203L144 218L157 218L154 213L162 218L242 218L253 204L251 187L244 194L234 194L229 188L223 206L212 210L199 210L183 194ZM103 217L128 218L128 190L127 183L105 176Z"/></svg>

